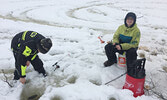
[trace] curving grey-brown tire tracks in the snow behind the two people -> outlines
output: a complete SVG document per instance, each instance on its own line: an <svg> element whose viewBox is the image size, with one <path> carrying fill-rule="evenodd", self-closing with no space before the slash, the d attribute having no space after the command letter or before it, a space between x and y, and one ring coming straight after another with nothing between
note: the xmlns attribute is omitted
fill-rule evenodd
<svg viewBox="0 0 167 100"><path fill-rule="evenodd" d="M73 16L73 13L76 10L84 9L84 8L91 7L91 6L102 6L102 5L110 5L110 4L98 4L98 5L83 6L83 7L79 7L79 8L76 8L76 9L73 9L73 10L66 12L66 15L70 18L75 18L77 20L80 20L79 18ZM47 5L47 6L54 6L54 5ZM0 15L0 18L12 20L12 21L22 21L22 22L26 22L26 23L35 23L35 24L40 24L40 25L60 27L60 28L78 28L78 29L84 28L84 26L82 26L82 25L70 25L70 24L66 24L66 23L49 22L49 21L44 21L44 20L33 19L33 18L30 18L27 16L28 12L33 11L33 10L38 9L38 8L41 8L41 7L46 7L46 5L45 6L31 7L29 9L26 8L26 10L24 10L24 12L20 13L19 17L13 16L13 13L15 13L15 11L17 11L17 10L15 10L15 11L11 11L9 14L7 14L5 16ZM103 14L103 12L102 12L102 14ZM85 21L90 21L90 20L85 20ZM94 22L97 23L98 21L94 21ZM104 23L104 22L101 22L101 23ZM112 30L106 30L106 29L102 29L102 28L90 28L90 27L87 27L87 28L90 30L94 30L94 31L101 31L103 33L110 33L112 31Z"/></svg>

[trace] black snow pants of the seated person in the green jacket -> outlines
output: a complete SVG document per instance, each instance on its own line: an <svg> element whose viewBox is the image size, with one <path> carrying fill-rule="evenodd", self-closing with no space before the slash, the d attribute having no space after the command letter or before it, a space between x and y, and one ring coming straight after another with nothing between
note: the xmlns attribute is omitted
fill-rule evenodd
<svg viewBox="0 0 167 100"><path fill-rule="evenodd" d="M111 43L107 44L105 46L105 52L108 58L108 61L116 63L117 62L117 57L116 57L116 52L119 54L123 54L126 52L126 65L127 68L130 64L132 64L136 59L137 59L137 48L131 48L129 50L117 50L114 45Z"/></svg>

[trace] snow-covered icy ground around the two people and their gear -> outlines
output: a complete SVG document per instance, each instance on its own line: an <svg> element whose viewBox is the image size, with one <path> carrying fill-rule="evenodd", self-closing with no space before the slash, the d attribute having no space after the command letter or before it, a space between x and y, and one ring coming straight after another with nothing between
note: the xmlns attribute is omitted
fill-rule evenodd
<svg viewBox="0 0 167 100"><path fill-rule="evenodd" d="M167 98L167 13L166 0L1 0L0 1L0 100L157 100L152 92L134 98L122 90L125 76L104 85L125 72L115 65L104 68L104 45L98 40L112 39L123 24L127 12L137 14L141 30L140 50L145 54L146 84ZM33 30L50 37L53 47L40 58L49 76L43 78L27 68L27 84L13 88L5 83L13 78L14 58L10 50L12 37ZM54 70L52 65L60 69ZM114 99L115 98L115 99Z"/></svg>

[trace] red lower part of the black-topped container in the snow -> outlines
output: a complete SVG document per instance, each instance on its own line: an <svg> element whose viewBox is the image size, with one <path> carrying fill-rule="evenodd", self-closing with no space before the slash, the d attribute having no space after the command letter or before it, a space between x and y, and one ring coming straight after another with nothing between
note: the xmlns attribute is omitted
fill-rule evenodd
<svg viewBox="0 0 167 100"><path fill-rule="evenodd" d="M126 74L126 81L123 89L131 90L134 93L134 97L141 96L144 94L144 82L145 77L142 79L136 79Z"/></svg>

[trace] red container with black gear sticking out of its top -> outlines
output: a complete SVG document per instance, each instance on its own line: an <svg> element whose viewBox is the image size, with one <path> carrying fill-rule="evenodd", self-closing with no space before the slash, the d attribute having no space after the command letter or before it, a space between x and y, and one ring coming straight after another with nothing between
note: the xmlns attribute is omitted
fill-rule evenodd
<svg viewBox="0 0 167 100"><path fill-rule="evenodd" d="M127 74L123 89L129 89L134 97L144 94L145 83L145 61L146 59L138 59L127 67Z"/></svg>

